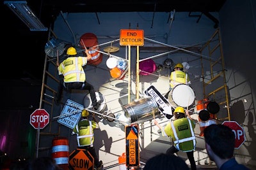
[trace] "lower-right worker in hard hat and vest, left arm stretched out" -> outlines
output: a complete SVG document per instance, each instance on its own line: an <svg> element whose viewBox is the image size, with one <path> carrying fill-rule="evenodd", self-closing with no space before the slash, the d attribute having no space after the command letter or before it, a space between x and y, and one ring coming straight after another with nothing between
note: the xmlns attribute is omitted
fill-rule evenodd
<svg viewBox="0 0 256 170"><path fill-rule="evenodd" d="M174 121L170 121L165 127L159 125L157 120L154 120L154 124L161 129L163 136L172 138L173 145L166 151L167 154L174 154L176 152L186 152L191 169L196 169L196 163L194 159L194 150L196 148L195 138L195 121L190 117L188 110L186 113L184 108L177 107L173 112ZM186 117L186 115L188 117Z"/></svg>

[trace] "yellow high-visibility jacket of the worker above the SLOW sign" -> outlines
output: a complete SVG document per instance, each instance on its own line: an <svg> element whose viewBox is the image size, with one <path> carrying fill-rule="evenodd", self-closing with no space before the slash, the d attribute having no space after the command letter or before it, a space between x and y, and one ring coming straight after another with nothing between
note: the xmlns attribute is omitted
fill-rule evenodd
<svg viewBox="0 0 256 170"><path fill-rule="evenodd" d="M99 125L87 119L83 119L76 124L72 134L77 134L77 146L93 146L93 130L99 128Z"/></svg>

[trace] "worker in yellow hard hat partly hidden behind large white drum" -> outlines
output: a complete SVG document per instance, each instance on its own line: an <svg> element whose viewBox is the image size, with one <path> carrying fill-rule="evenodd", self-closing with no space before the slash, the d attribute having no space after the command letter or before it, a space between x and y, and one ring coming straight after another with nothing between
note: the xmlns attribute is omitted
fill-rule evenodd
<svg viewBox="0 0 256 170"><path fill-rule="evenodd" d="M189 76L187 73L183 71L183 65L181 63L177 63L174 66L172 73L170 74L170 91L179 84L191 85L191 81L189 80ZM166 99L168 98L168 94L164 96Z"/></svg>

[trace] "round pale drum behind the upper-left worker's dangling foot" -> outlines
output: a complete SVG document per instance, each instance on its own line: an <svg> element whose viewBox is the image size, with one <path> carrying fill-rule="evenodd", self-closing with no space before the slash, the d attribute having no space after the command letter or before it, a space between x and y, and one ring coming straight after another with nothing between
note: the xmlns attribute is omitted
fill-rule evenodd
<svg viewBox="0 0 256 170"><path fill-rule="evenodd" d="M95 110L95 111L97 111L97 112L104 111L104 109L106 108L106 100L105 100L104 96L100 92L95 92L95 95L96 95L97 102L100 101L100 103L101 103L98 110ZM84 108L93 108L90 93L88 93L84 97L83 103L84 103Z"/></svg>

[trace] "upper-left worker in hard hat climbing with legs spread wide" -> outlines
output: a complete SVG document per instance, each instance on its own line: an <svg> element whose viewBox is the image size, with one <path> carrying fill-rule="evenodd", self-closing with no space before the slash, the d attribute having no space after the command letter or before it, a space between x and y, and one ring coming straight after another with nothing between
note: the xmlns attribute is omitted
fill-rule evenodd
<svg viewBox="0 0 256 170"><path fill-rule="evenodd" d="M87 64L87 61L92 59L92 55L90 55L87 49L85 50L85 53L87 57L77 57L76 48L70 46L67 49L67 59L63 60L61 63L57 60L56 65L58 66L59 74L63 75L63 79L60 80L55 99L57 104L60 103L63 88L68 92L71 92L72 89L89 90L92 106L95 110L98 110L100 101L97 103L95 90L93 86L86 81L83 69L83 66Z"/></svg>

